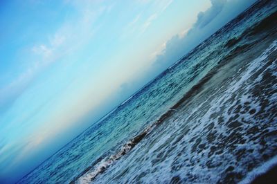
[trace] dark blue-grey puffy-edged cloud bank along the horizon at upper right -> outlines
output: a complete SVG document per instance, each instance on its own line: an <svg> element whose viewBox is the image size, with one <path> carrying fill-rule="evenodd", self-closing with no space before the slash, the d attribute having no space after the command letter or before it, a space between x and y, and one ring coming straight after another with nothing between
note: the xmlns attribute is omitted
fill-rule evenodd
<svg viewBox="0 0 277 184"><path fill-rule="evenodd" d="M184 30L184 33L175 35L166 42L166 48L162 54L157 55L152 70L160 73L177 62L255 1L211 0L211 7L205 12L199 12L197 21L190 30Z"/></svg>

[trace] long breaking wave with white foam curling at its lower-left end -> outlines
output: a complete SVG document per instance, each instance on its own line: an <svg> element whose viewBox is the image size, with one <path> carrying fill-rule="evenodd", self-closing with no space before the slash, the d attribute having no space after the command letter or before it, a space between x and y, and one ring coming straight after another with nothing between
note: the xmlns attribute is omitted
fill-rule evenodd
<svg viewBox="0 0 277 184"><path fill-rule="evenodd" d="M277 44L276 41L273 42L273 44L271 44L271 46L269 46L269 48L267 48L267 50L265 50L265 52L262 53L262 55L260 55L260 57L258 57L257 59L265 59L265 57L267 57L269 53L271 53L273 50L276 50L276 44ZM89 167L87 167L87 169L84 169L84 171L81 174L79 174L79 176L76 177L73 181L71 181L71 183L90 183L91 181L93 181L94 178L96 178L96 176L98 176L102 172L105 172L105 170L109 166L111 166L116 160L119 160L122 156L127 154L136 145L138 145L139 142L141 142L141 140L143 140L145 136L148 136L148 134L150 134L153 129L161 125L167 118L171 117L175 113L175 111L179 109L181 105L184 105L190 102L190 98L193 97L197 92L199 92L204 86L204 84L206 84L206 82L211 80L213 75L215 75L217 71L220 70L222 66L224 66L224 64L228 63L227 62L228 59L224 59L224 60L225 60L224 62L221 62L219 65L215 66L215 68L211 69L211 71L207 75L205 75L202 78L202 80L199 80L199 82L195 84L195 86L193 86L183 96L183 98L181 98L177 103L175 103L168 111L166 111L166 113L163 113L163 115L160 116L160 118L157 121L155 121L154 123L152 123L152 125L149 125L145 129L143 129L143 131L141 131L140 134L134 136L134 138L131 138L130 140L128 140L125 143L125 145L123 145L120 148L120 150L116 152L116 154L108 154L108 153L103 154L96 161L94 161ZM254 63L252 63L252 65L255 65Z"/></svg>

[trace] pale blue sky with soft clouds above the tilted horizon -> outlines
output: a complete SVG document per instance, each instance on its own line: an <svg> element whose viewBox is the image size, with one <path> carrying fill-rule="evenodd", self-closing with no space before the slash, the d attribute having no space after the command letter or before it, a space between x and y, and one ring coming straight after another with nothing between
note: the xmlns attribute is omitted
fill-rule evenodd
<svg viewBox="0 0 277 184"><path fill-rule="evenodd" d="M255 0L0 1L0 183L14 183Z"/></svg>

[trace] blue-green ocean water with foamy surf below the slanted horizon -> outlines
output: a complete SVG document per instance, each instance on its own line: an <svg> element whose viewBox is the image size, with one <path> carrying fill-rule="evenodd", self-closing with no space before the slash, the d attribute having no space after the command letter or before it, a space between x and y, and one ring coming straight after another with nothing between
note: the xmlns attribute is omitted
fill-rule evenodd
<svg viewBox="0 0 277 184"><path fill-rule="evenodd" d="M251 183L277 164L277 1L258 1L18 183Z"/></svg>

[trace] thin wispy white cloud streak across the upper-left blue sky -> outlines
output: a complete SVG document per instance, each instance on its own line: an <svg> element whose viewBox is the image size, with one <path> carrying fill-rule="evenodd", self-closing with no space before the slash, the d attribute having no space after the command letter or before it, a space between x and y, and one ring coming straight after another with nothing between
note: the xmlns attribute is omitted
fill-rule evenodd
<svg viewBox="0 0 277 184"><path fill-rule="evenodd" d="M93 23L104 12L108 13L112 8L112 6L101 6L102 8L96 9L93 1L86 1L86 3L81 3L82 5L75 1L68 3L78 12L78 17L64 21L46 42L35 44L29 49L27 55L35 59L30 60L28 68L15 77L10 84L0 89L0 114L7 111L48 66L61 61L64 56L73 53L89 42L98 30Z"/></svg>

